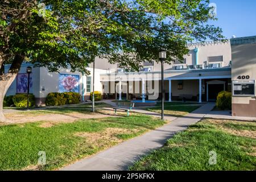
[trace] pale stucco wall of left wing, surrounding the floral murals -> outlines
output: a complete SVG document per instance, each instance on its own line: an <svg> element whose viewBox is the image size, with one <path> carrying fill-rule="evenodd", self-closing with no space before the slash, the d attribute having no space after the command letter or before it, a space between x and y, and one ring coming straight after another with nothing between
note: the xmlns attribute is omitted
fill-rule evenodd
<svg viewBox="0 0 256 182"><path fill-rule="evenodd" d="M19 73L26 73L26 68L28 66L33 66L32 64L23 63L20 68ZM5 71L7 72L10 65L6 65ZM93 84L93 72L92 68L87 68L90 74L88 76L92 77L91 80L91 91ZM102 84L100 82L100 74L107 73L107 70L104 69L95 69L95 91L102 92ZM84 90L84 100L89 100L90 93L86 92L86 78L87 76L82 76L80 72L71 72L70 69L61 68L60 72L49 72L47 68L32 68L32 89L30 93L35 95L36 105L44 105L46 96L50 92L59 92L59 74L67 74L67 75L78 75L79 76L79 93L82 95ZM44 90L43 90L44 87ZM15 95L16 94L16 78L11 84L9 90L7 90L6 96Z"/></svg>

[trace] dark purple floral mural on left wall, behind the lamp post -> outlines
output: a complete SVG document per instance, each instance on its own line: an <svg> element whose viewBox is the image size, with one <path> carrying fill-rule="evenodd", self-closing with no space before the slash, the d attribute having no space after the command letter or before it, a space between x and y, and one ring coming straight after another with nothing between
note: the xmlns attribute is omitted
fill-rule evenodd
<svg viewBox="0 0 256 182"><path fill-rule="evenodd" d="M19 73L16 79L16 93L27 93L27 73ZM32 74L30 74L30 93L32 92Z"/></svg>

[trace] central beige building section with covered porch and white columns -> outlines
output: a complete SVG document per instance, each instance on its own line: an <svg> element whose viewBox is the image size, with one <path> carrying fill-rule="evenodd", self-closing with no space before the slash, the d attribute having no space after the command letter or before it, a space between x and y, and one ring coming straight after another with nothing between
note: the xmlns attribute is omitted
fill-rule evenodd
<svg viewBox="0 0 256 182"><path fill-rule="evenodd" d="M222 90L231 92L230 42L188 44L189 54L184 61L164 64L164 95L166 101L214 101ZM105 60L98 60L104 68ZM101 74L105 98L140 99L143 90L148 99L160 99L161 65L144 62L140 72L125 72L118 65L110 65L109 73Z"/></svg>

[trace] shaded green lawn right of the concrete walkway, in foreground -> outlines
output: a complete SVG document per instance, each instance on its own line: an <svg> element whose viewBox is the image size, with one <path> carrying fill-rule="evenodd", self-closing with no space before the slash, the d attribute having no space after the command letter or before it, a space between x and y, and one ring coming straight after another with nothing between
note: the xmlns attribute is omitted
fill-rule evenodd
<svg viewBox="0 0 256 182"><path fill-rule="evenodd" d="M255 170L255 122L203 119L167 140L131 170ZM250 133L250 137L248 136ZM217 163L209 164L209 152Z"/></svg>

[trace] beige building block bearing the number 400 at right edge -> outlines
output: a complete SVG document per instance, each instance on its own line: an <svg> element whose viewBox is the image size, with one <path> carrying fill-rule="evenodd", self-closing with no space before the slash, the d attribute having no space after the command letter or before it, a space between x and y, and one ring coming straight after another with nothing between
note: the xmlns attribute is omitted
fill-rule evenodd
<svg viewBox="0 0 256 182"><path fill-rule="evenodd" d="M232 114L256 117L256 36L231 40Z"/></svg>

